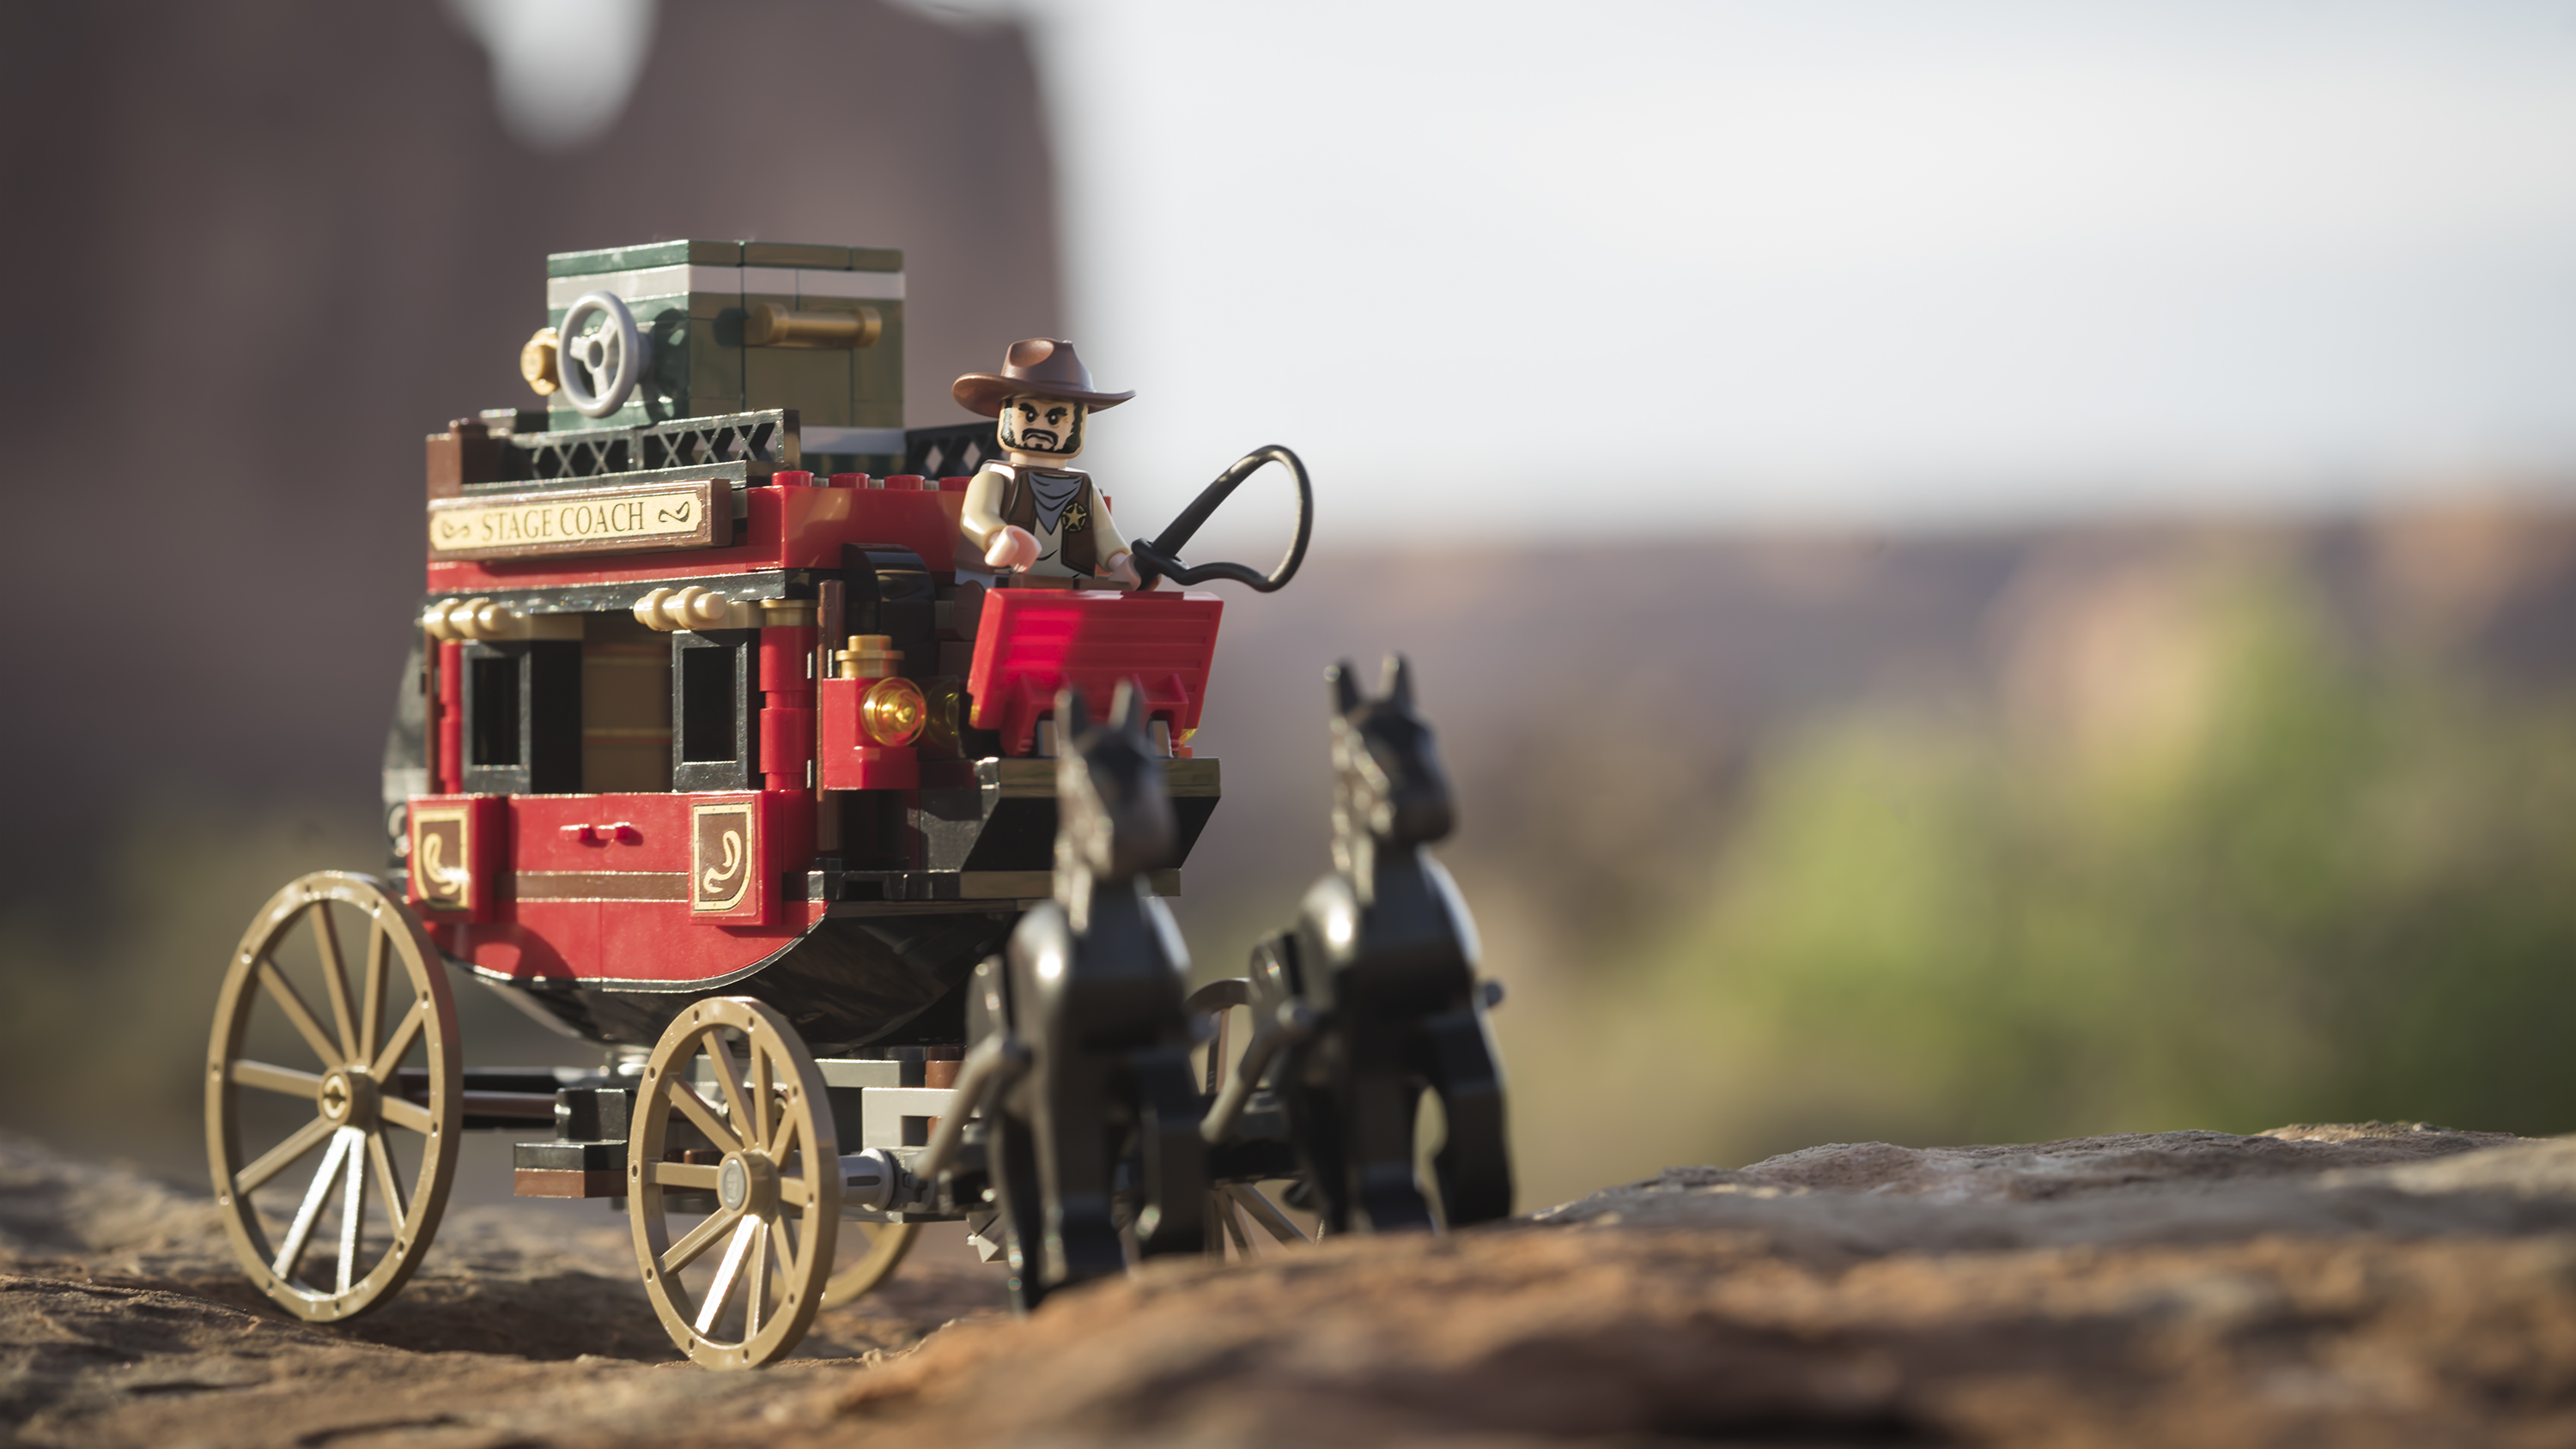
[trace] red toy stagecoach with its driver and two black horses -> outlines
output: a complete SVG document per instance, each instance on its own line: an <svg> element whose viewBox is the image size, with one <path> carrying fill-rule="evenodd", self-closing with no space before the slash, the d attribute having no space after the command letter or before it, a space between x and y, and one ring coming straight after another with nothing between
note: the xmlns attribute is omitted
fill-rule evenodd
<svg viewBox="0 0 2576 1449"><path fill-rule="evenodd" d="M1499 993L1422 849L1450 806L1399 661L1332 674L1298 924L1190 991L1162 906L1221 785L1193 584L1296 574L1293 453L1126 543L1061 468L1126 396L1069 345L958 381L999 425L904 427L899 252L662 242L546 288L544 407L428 440L392 870L278 891L216 1004L214 1192L270 1300L389 1300L469 1130L531 1138L518 1194L626 1212L714 1367L788 1354L922 1223L1025 1310L1141 1256L1510 1212ZM1273 463L1288 558L1182 564ZM459 981L585 1063L464 1066Z"/></svg>

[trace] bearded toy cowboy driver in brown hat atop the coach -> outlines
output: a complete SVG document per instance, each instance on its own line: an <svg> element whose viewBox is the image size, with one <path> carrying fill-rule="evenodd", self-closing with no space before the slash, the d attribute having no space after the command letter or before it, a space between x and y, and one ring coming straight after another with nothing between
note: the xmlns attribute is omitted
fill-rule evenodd
<svg viewBox="0 0 2576 1449"><path fill-rule="evenodd" d="M958 528L994 569L1038 584L1110 579L1136 587L1128 543L1090 474L1066 468L1082 453L1082 420L1133 391L1100 391L1072 342L1012 342L999 373L966 373L948 389L961 407L1002 420L1007 463L984 463L966 484Z"/></svg>

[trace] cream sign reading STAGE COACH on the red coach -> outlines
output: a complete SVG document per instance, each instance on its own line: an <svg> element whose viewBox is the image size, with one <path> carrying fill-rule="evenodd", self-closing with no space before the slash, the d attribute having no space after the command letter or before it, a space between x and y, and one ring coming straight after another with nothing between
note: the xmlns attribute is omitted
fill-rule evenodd
<svg viewBox="0 0 2576 1449"><path fill-rule="evenodd" d="M430 561L724 548L732 502L724 479L433 499Z"/></svg>

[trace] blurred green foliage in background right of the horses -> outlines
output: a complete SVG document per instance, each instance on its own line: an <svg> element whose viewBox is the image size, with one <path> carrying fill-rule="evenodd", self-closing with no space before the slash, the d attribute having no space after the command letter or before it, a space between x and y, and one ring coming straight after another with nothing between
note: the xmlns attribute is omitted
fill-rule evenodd
<svg viewBox="0 0 2576 1449"><path fill-rule="evenodd" d="M1533 1066L1636 1127L1587 1145L1533 1099L1540 1176L1569 1148L1618 1176L1837 1138L2576 1127L2576 695L2352 651L2285 571L2146 595L2043 623L1991 697L1765 752L1710 891L1551 999L1577 1045Z"/></svg>

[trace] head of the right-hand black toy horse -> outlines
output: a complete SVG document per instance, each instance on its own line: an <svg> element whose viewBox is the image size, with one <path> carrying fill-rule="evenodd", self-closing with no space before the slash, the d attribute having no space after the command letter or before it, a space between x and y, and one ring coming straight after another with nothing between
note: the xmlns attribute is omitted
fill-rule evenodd
<svg viewBox="0 0 2576 1449"><path fill-rule="evenodd" d="M1332 860L1365 883L1381 849L1412 852L1445 836L1455 808L1432 728L1414 713L1414 674L1404 656L1386 656L1386 685L1376 697L1360 695L1350 661L1324 677L1334 705Z"/></svg>

